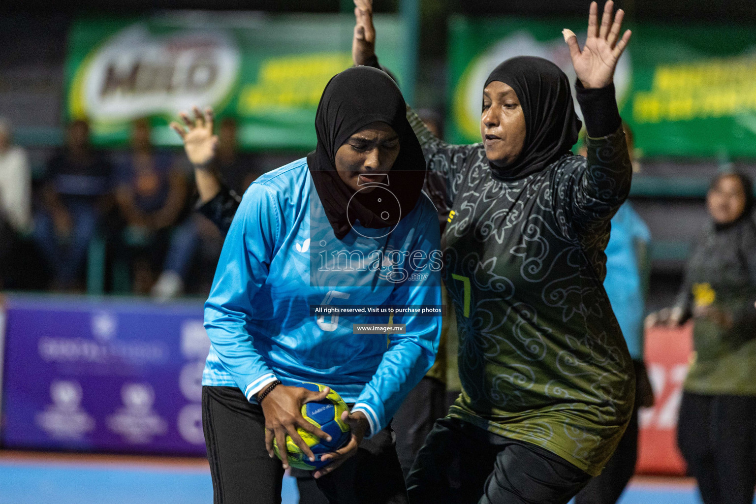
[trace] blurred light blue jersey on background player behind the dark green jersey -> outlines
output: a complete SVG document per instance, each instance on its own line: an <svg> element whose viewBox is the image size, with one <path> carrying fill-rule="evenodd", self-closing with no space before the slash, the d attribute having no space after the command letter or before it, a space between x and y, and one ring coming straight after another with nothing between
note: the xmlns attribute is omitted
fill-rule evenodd
<svg viewBox="0 0 756 504"><path fill-rule="evenodd" d="M604 289L627 342L627 350L631 357L642 360L645 303L637 240L648 243L651 233L631 204L625 202L612 218L612 234L606 246Z"/></svg>

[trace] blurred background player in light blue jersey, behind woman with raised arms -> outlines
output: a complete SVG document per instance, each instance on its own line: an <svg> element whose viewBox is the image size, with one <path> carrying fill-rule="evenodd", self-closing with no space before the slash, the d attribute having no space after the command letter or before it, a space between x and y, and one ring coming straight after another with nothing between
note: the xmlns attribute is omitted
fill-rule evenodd
<svg viewBox="0 0 756 504"><path fill-rule="evenodd" d="M634 160L634 137L622 123L627 151L637 172ZM587 155L586 147L578 152ZM633 477L638 456L638 408L653 405L653 392L646 366L643 363L643 312L646 305L646 285L649 274L646 250L651 233L629 201L625 201L612 218L612 231L606 246L606 278L604 289L609 295L627 350L635 366L635 406L633 416L619 442L617 450L601 475L591 479L575 496L575 504L614 504Z"/></svg>

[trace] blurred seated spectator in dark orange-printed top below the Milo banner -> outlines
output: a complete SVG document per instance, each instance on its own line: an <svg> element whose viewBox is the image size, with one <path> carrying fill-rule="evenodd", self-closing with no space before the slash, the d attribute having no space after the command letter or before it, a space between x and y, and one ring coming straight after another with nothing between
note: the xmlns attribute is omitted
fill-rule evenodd
<svg viewBox="0 0 756 504"><path fill-rule="evenodd" d="M191 261L191 243L196 234L191 227L172 229L186 203L187 183L172 153L154 150L150 135L147 119L136 120L132 150L118 163L116 196L126 221L123 241L129 250L135 294L150 292L157 274L163 270L163 259L166 270L175 272L181 283L181 274ZM176 240L181 246L172 243ZM169 243L172 246L166 255Z"/></svg>

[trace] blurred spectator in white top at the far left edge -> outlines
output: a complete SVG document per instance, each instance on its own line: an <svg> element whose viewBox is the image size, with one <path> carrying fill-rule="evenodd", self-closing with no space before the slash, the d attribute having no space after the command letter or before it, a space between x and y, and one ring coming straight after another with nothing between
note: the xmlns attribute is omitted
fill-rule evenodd
<svg viewBox="0 0 756 504"><path fill-rule="evenodd" d="M32 176L26 151L11 143L11 123L0 118L0 289L20 235L32 227Z"/></svg>

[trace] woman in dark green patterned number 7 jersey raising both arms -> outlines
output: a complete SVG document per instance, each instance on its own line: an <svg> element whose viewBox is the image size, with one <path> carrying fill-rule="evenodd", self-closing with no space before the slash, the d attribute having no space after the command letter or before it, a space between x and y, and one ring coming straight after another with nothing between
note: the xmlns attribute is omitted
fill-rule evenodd
<svg viewBox="0 0 756 504"><path fill-rule="evenodd" d="M370 2L355 3L355 63L376 66ZM541 58L491 73L482 144L445 144L408 113L426 187L450 211L444 274L463 385L415 460L412 502L567 502L630 418L632 361L602 285L609 221L631 183L612 84L630 33L620 37L612 2L600 24L597 11L593 2L582 51L563 32L587 159L570 151L581 123L569 80Z"/></svg>

